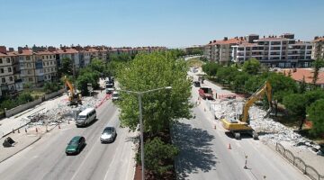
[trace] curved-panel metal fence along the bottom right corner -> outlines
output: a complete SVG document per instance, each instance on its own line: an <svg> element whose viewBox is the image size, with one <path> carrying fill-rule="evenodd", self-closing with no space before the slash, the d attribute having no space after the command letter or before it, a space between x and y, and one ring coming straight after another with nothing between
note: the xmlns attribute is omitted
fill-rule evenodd
<svg viewBox="0 0 324 180"><path fill-rule="evenodd" d="M278 151L289 162L302 171L303 174L308 175L313 180L324 180L324 175L320 175L319 172L312 166L307 165L302 158L293 155L293 152L284 148L280 143L275 144L275 150Z"/></svg>

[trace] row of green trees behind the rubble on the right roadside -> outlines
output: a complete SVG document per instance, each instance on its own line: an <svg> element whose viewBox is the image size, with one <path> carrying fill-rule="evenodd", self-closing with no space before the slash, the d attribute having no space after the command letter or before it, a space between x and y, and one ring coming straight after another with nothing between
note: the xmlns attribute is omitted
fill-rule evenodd
<svg viewBox="0 0 324 180"><path fill-rule="evenodd" d="M314 78L317 78L320 67L324 60L318 59L314 62ZM237 64L230 67L222 67L216 63L206 63L202 70L212 79L228 86L236 93L253 94L258 87L269 81L273 87L274 100L284 104L290 115L296 121L301 121L300 129L309 114L308 119L314 124L311 132L314 135L324 133L324 116L319 117L311 114L319 109L323 91L316 85L306 85L303 80L297 83L293 78L275 72L268 72L255 58L248 59L242 66ZM316 80L314 81L316 82ZM309 89L307 92L305 92Z"/></svg>

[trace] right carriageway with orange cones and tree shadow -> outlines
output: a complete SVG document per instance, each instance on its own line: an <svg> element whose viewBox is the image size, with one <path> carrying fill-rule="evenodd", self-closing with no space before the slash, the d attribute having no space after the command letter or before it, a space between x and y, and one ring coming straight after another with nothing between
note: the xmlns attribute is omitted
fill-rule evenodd
<svg viewBox="0 0 324 180"><path fill-rule="evenodd" d="M194 102L197 91L193 87ZM225 133L220 121L214 121L204 108L202 100L193 109L194 119L181 120L173 128L174 142L181 150L175 161L177 179L261 180L265 175L266 179L308 179L261 141L244 137L237 140Z"/></svg>

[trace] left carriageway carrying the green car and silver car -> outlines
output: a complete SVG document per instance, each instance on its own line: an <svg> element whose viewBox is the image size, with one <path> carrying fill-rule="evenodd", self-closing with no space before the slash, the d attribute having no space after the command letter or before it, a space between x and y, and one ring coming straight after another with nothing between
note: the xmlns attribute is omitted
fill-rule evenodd
<svg viewBox="0 0 324 180"><path fill-rule="evenodd" d="M135 134L119 127L118 110L111 101L97 109L97 121L86 128L49 132L31 147L0 164L0 179L132 179ZM106 125L116 127L117 138L101 144ZM79 155L67 156L67 142L76 135L85 137Z"/></svg>

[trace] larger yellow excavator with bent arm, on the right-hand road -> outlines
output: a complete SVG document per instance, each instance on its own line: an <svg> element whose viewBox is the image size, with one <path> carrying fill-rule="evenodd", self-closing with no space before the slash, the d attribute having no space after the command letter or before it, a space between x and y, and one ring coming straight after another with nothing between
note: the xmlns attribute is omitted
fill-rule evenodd
<svg viewBox="0 0 324 180"><path fill-rule="evenodd" d="M265 85L262 85L256 91L256 93L252 94L247 99L247 102L244 103L243 112L239 120L226 118L220 120L223 127L233 133L235 139L240 139L240 134L243 133L251 135L253 139L258 139L257 132L253 130L251 126L249 126L248 110L253 103L255 103L258 99L263 98L265 94L269 103L269 109L266 112L267 116L272 110L272 87L268 81L266 81Z"/></svg>

